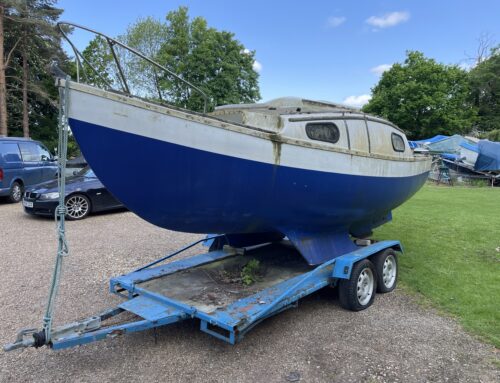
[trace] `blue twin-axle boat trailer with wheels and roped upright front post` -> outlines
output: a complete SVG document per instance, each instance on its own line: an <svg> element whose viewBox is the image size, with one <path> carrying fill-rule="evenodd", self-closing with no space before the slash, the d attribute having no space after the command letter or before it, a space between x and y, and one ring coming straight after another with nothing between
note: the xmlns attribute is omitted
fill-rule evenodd
<svg viewBox="0 0 500 383"><path fill-rule="evenodd" d="M353 311L368 308L375 291L389 292L395 288L396 251L403 251L398 241L356 240L355 246L350 245L340 254L327 250L332 259L325 256L324 249L328 247L324 247L320 264L311 266L288 240L231 247L224 241L213 242L225 237L218 235L112 278L110 291L122 297L122 303L98 315L52 327L62 263L69 254L64 204L68 84L66 77L66 88L59 89L58 249L43 329L19 331L15 342L4 346L5 351L41 346L64 349L187 319L199 320L201 331L235 344L264 319L296 307L299 299L323 287L338 286L341 305ZM301 240L307 244L307 239ZM207 252L165 263L201 242L210 246ZM258 267L251 283L246 284L242 271L251 262Z"/></svg>

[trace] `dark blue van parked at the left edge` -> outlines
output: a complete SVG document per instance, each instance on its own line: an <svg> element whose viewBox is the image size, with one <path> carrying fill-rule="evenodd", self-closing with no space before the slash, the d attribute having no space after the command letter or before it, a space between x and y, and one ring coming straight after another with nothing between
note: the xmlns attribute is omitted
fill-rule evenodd
<svg viewBox="0 0 500 383"><path fill-rule="evenodd" d="M0 137L0 196L22 199L25 188L54 179L57 163L40 142L29 138Z"/></svg>

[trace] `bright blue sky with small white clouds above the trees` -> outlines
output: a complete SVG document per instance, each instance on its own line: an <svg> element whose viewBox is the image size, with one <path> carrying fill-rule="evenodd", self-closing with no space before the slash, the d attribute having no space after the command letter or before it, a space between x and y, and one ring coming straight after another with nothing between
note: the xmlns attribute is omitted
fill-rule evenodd
<svg viewBox="0 0 500 383"><path fill-rule="evenodd" d="M470 67L481 35L500 44L500 0L59 0L61 20L110 36L187 6L256 51L263 101L296 96L362 106L381 73L419 50ZM75 35L83 50L88 35ZM496 45L495 44L495 45Z"/></svg>

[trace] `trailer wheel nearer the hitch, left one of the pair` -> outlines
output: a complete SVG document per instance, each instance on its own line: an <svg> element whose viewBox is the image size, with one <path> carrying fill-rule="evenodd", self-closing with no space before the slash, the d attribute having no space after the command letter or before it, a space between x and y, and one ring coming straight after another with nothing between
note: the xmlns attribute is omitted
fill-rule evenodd
<svg viewBox="0 0 500 383"><path fill-rule="evenodd" d="M340 305L351 311L361 311L370 307L377 288L375 276L375 267L368 259L356 263L351 278L339 281Z"/></svg>

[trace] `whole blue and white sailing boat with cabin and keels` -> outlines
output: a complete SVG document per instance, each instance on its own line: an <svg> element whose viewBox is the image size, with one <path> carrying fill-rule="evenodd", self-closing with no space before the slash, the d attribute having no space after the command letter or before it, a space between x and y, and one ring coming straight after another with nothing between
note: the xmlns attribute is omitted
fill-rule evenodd
<svg viewBox="0 0 500 383"><path fill-rule="evenodd" d="M131 211L248 246L285 236L310 264L355 248L424 184L430 158L381 118L281 98L196 113L66 82L83 155Z"/></svg>

